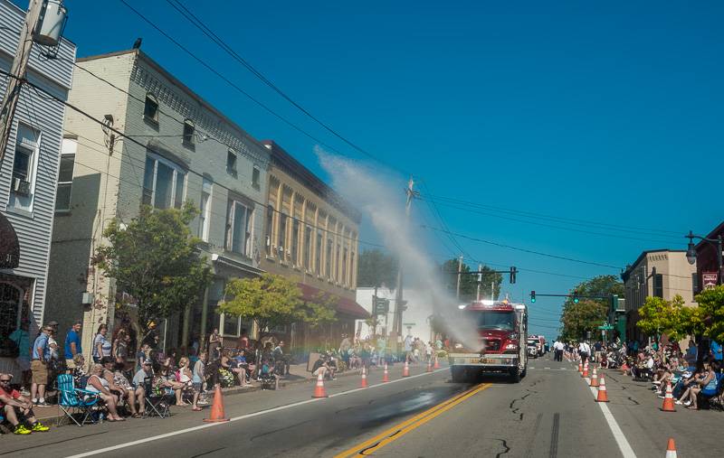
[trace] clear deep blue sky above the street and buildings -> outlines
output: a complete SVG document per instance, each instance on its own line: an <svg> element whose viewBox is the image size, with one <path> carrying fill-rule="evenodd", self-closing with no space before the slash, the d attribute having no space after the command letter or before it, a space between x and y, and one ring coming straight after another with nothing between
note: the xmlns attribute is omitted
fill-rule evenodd
<svg viewBox="0 0 724 458"><path fill-rule="evenodd" d="M166 1L127 0L274 111L338 151L329 135L209 42ZM538 217L502 220L439 206L456 232L625 266L643 249L685 248L688 229L722 220L724 89L721 2L206 2L182 0L292 98L423 191L503 209L672 231L622 232ZM26 6L24 2L16 2ZM315 142L253 105L119 0L68 2L79 56L143 51L257 138L273 138L325 176ZM395 198L395 196L391 196ZM402 193L399 196L403 198ZM423 201L418 220L440 227ZM525 220L528 222L522 222ZM550 228L548 224L557 226ZM562 228L562 229L561 229ZM427 229L420 229L427 230ZM643 239L622 238L635 237ZM674 236L674 237L672 237ZM378 236L363 227L361 238ZM452 241L426 235L434 257ZM457 238L474 259L568 276L618 274ZM521 272L505 285L563 293L579 279ZM532 331L555 336L559 301L531 307Z"/></svg>

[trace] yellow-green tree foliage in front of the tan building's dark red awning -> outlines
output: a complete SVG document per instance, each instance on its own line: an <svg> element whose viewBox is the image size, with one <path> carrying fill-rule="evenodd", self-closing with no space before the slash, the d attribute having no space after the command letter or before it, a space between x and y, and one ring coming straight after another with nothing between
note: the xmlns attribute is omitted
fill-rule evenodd
<svg viewBox="0 0 724 458"><path fill-rule="evenodd" d="M229 299L219 304L221 313L253 320L262 334L292 322L319 327L336 319L330 296L322 294L316 301L305 303L296 283L273 274L234 278L226 284L224 297Z"/></svg>

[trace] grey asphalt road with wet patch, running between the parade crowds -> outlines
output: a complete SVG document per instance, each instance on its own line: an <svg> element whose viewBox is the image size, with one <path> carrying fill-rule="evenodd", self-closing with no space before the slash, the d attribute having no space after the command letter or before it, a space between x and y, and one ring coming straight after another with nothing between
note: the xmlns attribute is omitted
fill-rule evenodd
<svg viewBox="0 0 724 458"><path fill-rule="evenodd" d="M227 396L228 423L207 424L207 410L177 408L168 419L5 435L0 455L661 457L668 435L677 434L680 456L720 455L718 427L703 437L691 427L692 421L718 424L720 412L658 412L658 398L614 373L612 402L603 410L570 363L546 357L529 366L519 384L497 378L460 384L450 381L448 369L426 374L419 366L401 379L398 365L392 383L380 383L381 370L370 374L370 388L357 389L357 376L328 382L329 398L312 399L310 383ZM620 426L618 438L611 419Z"/></svg>

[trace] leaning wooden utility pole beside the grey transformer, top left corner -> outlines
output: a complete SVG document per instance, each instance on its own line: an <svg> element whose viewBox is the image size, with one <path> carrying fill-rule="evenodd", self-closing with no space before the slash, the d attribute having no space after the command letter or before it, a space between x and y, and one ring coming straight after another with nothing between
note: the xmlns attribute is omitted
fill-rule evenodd
<svg viewBox="0 0 724 458"><path fill-rule="evenodd" d="M5 96L3 97L3 103L0 105L0 164L3 162L7 144L10 141L10 131L13 128L15 107L17 106L17 100L20 98L20 91L23 86L21 79L24 79L25 73L27 73L30 50L33 49L33 34L35 33L35 28L38 25L38 19L42 12L43 0L30 0L28 12L25 14L23 29L20 31L20 37L18 38L13 65L10 67L10 74L12 76L7 77Z"/></svg>

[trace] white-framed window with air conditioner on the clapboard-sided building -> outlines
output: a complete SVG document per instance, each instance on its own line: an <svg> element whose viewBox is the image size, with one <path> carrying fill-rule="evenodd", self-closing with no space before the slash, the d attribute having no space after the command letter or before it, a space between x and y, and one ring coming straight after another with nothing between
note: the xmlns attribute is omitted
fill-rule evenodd
<svg viewBox="0 0 724 458"><path fill-rule="evenodd" d="M39 154L40 132L31 126L18 124L10 183L10 206L15 209L33 211L33 193Z"/></svg>

